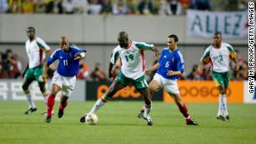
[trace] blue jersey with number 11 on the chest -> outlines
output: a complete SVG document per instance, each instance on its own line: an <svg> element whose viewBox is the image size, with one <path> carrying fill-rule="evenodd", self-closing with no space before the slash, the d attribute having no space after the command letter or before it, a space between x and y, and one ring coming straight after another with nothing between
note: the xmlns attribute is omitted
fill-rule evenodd
<svg viewBox="0 0 256 144"><path fill-rule="evenodd" d="M75 60L74 55L81 52L86 52L86 50L70 46L68 52L64 52L61 48L58 48L48 58L47 64L50 65L58 59L58 74L63 77L73 77L79 72L79 59Z"/></svg>

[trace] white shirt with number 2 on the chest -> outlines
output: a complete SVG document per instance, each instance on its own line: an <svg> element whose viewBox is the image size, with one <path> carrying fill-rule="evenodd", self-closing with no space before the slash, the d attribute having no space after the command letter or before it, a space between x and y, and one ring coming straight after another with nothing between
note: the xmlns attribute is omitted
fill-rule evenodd
<svg viewBox="0 0 256 144"><path fill-rule="evenodd" d="M229 59L234 59L236 53L233 51L233 47L228 43L222 42L220 48L210 45L206 48L200 61L212 65L214 72L228 72L229 71Z"/></svg>

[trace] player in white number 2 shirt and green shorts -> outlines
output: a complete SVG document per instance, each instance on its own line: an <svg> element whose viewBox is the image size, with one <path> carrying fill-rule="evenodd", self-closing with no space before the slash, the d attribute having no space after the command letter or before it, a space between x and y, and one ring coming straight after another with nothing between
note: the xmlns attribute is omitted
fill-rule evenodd
<svg viewBox="0 0 256 144"><path fill-rule="evenodd" d="M222 42L221 33L215 32L213 35L213 44L206 48L198 67L199 69L202 69L203 65L206 65L209 62L211 63L211 74L219 92L217 119L223 121L230 120L227 109L229 58L235 63L235 71L238 71L238 60L236 53L233 51L233 47L228 43Z"/></svg>

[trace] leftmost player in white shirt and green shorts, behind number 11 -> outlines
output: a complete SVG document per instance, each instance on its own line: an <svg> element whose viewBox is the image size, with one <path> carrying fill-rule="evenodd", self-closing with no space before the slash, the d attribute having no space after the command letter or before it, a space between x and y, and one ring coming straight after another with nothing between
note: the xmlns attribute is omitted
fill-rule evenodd
<svg viewBox="0 0 256 144"><path fill-rule="evenodd" d="M28 89L29 85L33 81L38 82L38 86L43 94L45 104L47 102L48 92L45 89L45 82L43 82L42 79L42 72L43 63L47 60L50 52L50 47L48 47L48 45L43 42L41 38L35 36L34 27L28 27L27 34L28 41L26 42L25 47L28 54L28 65L23 72L23 77L25 78L25 81L23 82L23 92L27 97L29 108L25 114L37 111L37 107L33 102L33 98L31 97Z"/></svg>

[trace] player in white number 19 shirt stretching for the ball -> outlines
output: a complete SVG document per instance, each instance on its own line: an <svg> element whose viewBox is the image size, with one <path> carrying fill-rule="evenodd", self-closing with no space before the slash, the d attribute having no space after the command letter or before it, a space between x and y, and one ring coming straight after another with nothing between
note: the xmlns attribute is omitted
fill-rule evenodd
<svg viewBox="0 0 256 144"><path fill-rule="evenodd" d="M97 112L98 109L110 100L116 92L121 90L123 87L127 87L128 84L131 83L143 96L143 118L147 121L148 126L151 126L153 125L153 121L151 117L149 117L151 100L148 83L144 77L145 59L143 51L150 50L158 54L158 49L153 46L153 44L134 42L132 40L129 41L127 32L120 32L118 34L118 42L118 47L113 49L108 76L111 77L112 67L115 62L117 62L118 57L121 59L122 63L121 71L109 87L107 94L98 99L89 113ZM80 122L85 122L86 116L87 114L81 117Z"/></svg>

